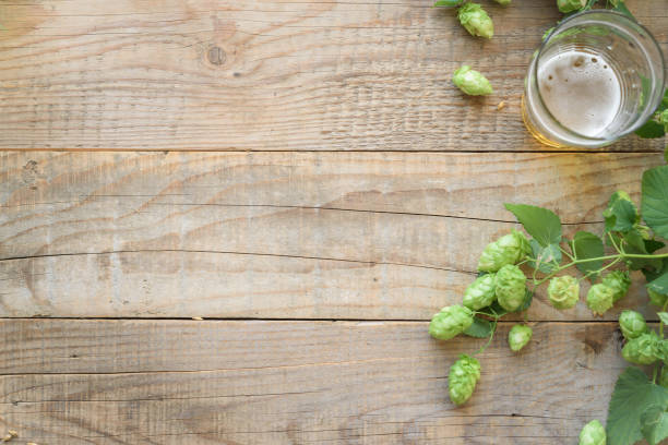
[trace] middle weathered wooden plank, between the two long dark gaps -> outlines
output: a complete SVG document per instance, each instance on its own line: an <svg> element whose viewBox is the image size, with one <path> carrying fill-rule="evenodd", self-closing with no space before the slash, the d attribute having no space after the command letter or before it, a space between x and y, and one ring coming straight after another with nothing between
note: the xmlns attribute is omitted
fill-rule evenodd
<svg viewBox="0 0 668 445"><path fill-rule="evenodd" d="M0 155L0 314L428 320L503 202L599 230L647 154ZM528 175L527 172L530 172ZM625 305L643 305L632 289ZM623 306L623 305L622 305ZM581 305L534 320L589 320ZM615 320L617 312L609 314Z"/></svg>

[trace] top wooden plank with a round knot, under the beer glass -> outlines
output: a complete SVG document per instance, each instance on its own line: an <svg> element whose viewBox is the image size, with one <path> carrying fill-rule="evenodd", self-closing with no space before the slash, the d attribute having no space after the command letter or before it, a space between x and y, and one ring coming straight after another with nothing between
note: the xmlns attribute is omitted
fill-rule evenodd
<svg viewBox="0 0 668 445"><path fill-rule="evenodd" d="M490 41L432 3L3 2L0 147L545 149L520 104L529 57L561 19L554 0L486 4ZM668 50L668 0L629 7ZM452 85L467 62L493 96ZM629 137L605 149L661 148Z"/></svg>

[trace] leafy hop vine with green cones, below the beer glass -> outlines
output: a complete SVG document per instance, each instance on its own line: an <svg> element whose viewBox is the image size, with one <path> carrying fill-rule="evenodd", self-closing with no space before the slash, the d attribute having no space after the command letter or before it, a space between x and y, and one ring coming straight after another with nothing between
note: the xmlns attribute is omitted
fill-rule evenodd
<svg viewBox="0 0 668 445"><path fill-rule="evenodd" d="M666 190L668 166L645 172L642 208L628 193L617 191L604 212L603 236L578 231L572 239L563 236L561 221L553 212L506 204L528 236L513 230L487 244L478 261L479 275L465 289L462 304L443 308L429 326L430 334L438 339L451 339L460 334L489 337L477 352L461 356L451 366L451 400L462 405L472 397L480 378L480 362L474 356L491 344L498 323L506 313L529 310L540 286L549 281L547 297L552 306L569 310L580 301L581 282L588 279L592 286L585 298L586 305L594 314L603 315L629 293L632 281L629 270L641 270L647 279L649 301L661 309L657 314L661 323L657 333L647 326L640 312L621 312L622 357L637 365L654 364L654 375L648 381L641 369L633 366L622 373L608 416L608 431L615 434L607 435L616 437L631 428L635 430L630 437L644 435L651 444L656 444L659 435L652 423L655 412L645 413L644 410L658 399L668 406L668 366L664 364L668 363L668 339L664 339L664 323L668 323L668 312L665 312L668 308L668 253L663 249L668 238ZM575 268L581 277L566 274L568 269L576 273ZM520 351L532 336L529 326L516 324L508 334L508 345L512 351ZM635 398L624 400L631 396ZM656 411L656 407L652 409ZM661 414L663 410L660 406L657 412ZM622 421L625 422L623 428ZM580 438L582 445L603 445L606 429L598 421L589 422Z"/></svg>

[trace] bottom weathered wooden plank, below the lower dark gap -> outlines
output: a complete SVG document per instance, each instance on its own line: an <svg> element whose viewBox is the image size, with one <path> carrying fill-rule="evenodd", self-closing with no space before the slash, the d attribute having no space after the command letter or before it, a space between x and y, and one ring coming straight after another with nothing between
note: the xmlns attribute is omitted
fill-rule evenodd
<svg viewBox="0 0 668 445"><path fill-rule="evenodd" d="M0 412L79 444L556 444L605 421L625 366L613 323L503 324L467 405L448 370L482 340L426 323L2 321Z"/></svg>

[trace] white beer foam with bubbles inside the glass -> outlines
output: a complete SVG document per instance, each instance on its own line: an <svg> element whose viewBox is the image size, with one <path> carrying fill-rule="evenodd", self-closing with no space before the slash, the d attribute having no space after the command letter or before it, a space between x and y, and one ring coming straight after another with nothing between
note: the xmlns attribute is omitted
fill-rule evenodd
<svg viewBox="0 0 668 445"><path fill-rule="evenodd" d="M601 136L621 107L617 73L599 55L569 50L541 60L538 88L562 125L587 137Z"/></svg>

